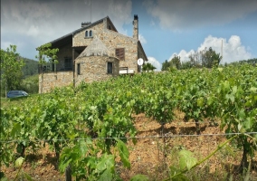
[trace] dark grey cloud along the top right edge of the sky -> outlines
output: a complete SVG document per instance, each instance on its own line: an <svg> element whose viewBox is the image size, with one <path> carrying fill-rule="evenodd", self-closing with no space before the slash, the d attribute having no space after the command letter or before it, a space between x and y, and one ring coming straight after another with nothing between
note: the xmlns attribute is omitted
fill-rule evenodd
<svg viewBox="0 0 257 181"><path fill-rule="evenodd" d="M163 28L173 31L187 30L192 27L225 24L243 18L257 11L257 1L241 0L145 0L148 14L156 17Z"/></svg>

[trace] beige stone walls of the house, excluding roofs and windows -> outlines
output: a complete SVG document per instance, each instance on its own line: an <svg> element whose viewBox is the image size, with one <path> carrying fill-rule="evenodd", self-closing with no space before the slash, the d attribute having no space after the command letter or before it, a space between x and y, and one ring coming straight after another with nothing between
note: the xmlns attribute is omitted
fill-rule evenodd
<svg viewBox="0 0 257 181"><path fill-rule="evenodd" d="M43 92L47 92L54 87L67 86L73 83L73 71L62 71L64 69L65 57L72 57L72 47L89 46L94 37L98 37L107 47L109 56L90 56L76 59L75 64L75 85L81 81L103 81L110 77L119 76L119 67L129 67L130 70L138 72L138 58L147 60L142 46L138 43L137 38L132 38L114 30L107 18L103 21L92 24L87 29L81 30L73 34L72 43L66 44L59 48L57 54L59 63L56 64L57 72L43 74ZM138 24L137 24L138 25ZM92 31L91 37L86 37L85 32ZM114 30L114 31L113 31ZM125 60L120 60L116 57L116 48L124 48ZM75 57L78 54L75 52ZM107 73L107 62L113 62L113 73ZM81 63L81 74L77 74L77 64ZM72 66L72 65L71 65ZM39 75L39 92L41 92L42 76Z"/></svg>

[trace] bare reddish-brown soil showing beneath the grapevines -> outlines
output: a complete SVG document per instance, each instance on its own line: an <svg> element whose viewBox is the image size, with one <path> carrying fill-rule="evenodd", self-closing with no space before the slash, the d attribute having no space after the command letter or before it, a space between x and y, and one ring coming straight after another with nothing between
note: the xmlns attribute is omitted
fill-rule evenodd
<svg viewBox="0 0 257 181"><path fill-rule="evenodd" d="M150 180L162 180L167 178L169 167L179 167L178 152L187 149L194 152L198 160L209 155L226 138L224 136L211 136L212 134L224 133L218 126L213 126L213 122L205 120L200 124L201 136L196 136L195 123L191 120L184 122L183 115L176 113L176 120L161 126L154 119L146 118L144 114L135 116L135 126L138 129L137 144L134 145L129 140L129 160L131 168L121 167L117 159L117 171L124 180L129 180L132 176L143 174ZM166 135L160 138L161 132ZM189 135L195 135L190 136ZM233 151L232 151L233 150ZM234 151L235 148L229 146L222 149L187 176L190 180L221 180L224 176L229 176L233 167L240 163L241 152ZM22 171L33 177L33 180L65 180L65 176L54 168L56 162L54 153L49 148L42 148L36 153L26 149L26 161ZM256 160L255 160L256 161ZM257 176L255 169L252 169L252 180ZM12 164L10 167L1 167L5 176L14 180L18 170ZM193 177L192 177L193 176ZM255 177L256 176L256 177ZM25 180L25 179L24 179ZM233 180L235 177L233 177Z"/></svg>

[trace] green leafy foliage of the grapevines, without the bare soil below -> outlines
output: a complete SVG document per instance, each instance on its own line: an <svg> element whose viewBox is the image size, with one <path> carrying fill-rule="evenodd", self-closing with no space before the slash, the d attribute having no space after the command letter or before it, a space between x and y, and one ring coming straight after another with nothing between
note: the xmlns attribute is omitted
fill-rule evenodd
<svg viewBox="0 0 257 181"><path fill-rule="evenodd" d="M257 129L256 77L256 68L243 64L136 74L29 97L20 107L1 108L1 162L8 166L14 161L17 145L36 148L40 145L35 142L43 140L54 148L62 172L69 166L77 179L119 180L115 158L119 154L123 166L130 167L126 142L137 133L132 115L145 113L164 125L173 121L174 110L195 122L221 119L226 133L243 133L233 138L234 144L253 157L256 136L247 132ZM17 141L9 144L9 140ZM202 163L195 164L186 151L179 157L183 170L170 167L171 176ZM182 173L174 179L186 177Z"/></svg>

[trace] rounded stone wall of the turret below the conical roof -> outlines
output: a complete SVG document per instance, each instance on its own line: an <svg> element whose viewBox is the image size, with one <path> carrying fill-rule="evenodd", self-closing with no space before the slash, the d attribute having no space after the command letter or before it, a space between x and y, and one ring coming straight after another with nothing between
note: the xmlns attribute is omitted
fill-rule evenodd
<svg viewBox="0 0 257 181"><path fill-rule="evenodd" d="M113 63L112 73L107 72L107 62ZM81 73L78 74L78 63L81 66ZM111 77L119 76L119 60L109 56L88 56L76 59L75 86L81 81L105 81Z"/></svg>

